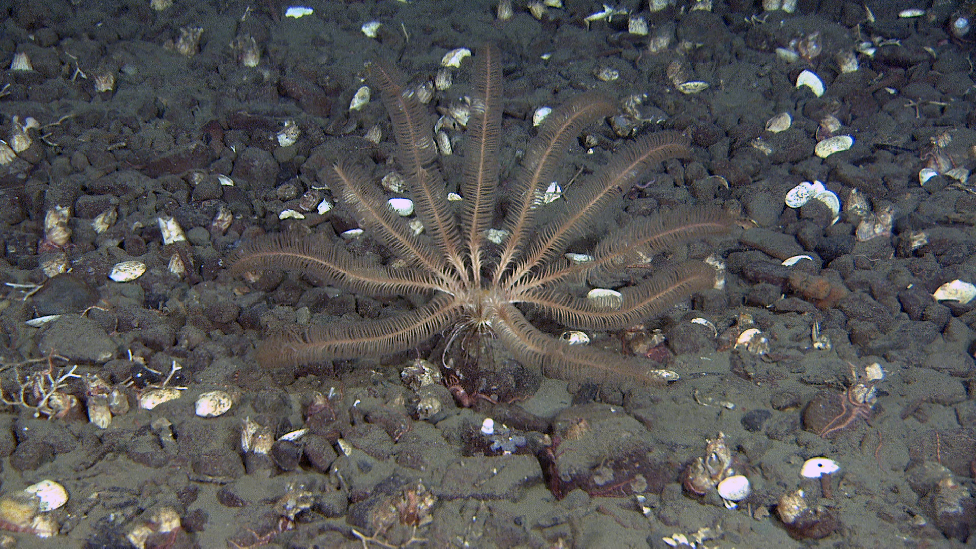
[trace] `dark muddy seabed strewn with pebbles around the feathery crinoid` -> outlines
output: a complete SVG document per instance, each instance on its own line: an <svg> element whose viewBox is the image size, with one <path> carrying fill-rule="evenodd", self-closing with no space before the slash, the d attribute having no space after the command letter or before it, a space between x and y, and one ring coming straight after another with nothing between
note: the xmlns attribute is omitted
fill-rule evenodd
<svg viewBox="0 0 976 549"><path fill-rule="evenodd" d="M16 150L0 150L0 376L8 401L26 386L23 405L0 414L0 528L20 530L0 543L972 545L976 313L932 293L976 281L976 193L966 182L976 163L966 38L976 33L948 30L956 10L972 16L973 6L614 6L647 22L640 34L626 15L588 24L599 2L567 0L540 20L519 1L508 21L492 2L464 4L313 1L311 15L293 19L278 0L3 3L0 65L16 67L22 53L30 68L0 81L0 137ZM899 17L910 8L925 11ZM369 21L383 23L375 38L361 30ZM202 28L198 44L192 27ZM722 259L723 289L648 319L643 332L589 334L591 345L619 350L623 338L646 352L633 338L660 329L668 340L652 354L680 380L601 390L526 376L501 355L524 395L494 404L489 388L461 408L434 383L425 389L440 409L419 411L425 372L404 381L401 371L438 338L380 360L259 366L255 343L283 322L381 317L410 302L316 287L297 273L248 283L222 260L262 232L332 238L355 227L341 205L318 213L321 200L335 201L316 173L342 156L372 158L378 180L392 168L377 94L349 109L364 63L395 60L422 84L447 52L483 42L498 44L505 65L504 179L538 107L599 89L621 100L622 115L589 131L597 150L656 128L694 140L694 158L648 174L608 219L694 204L742 220L745 230L674 251ZM852 60L856 70L842 70ZM447 72L453 86L433 90L431 115L463 104L468 63ZM804 69L822 80L822 97L794 87ZM790 128L767 130L783 112ZM463 131L445 134L462 150ZM378 135L379 145L364 139ZM815 154L832 135L853 147ZM449 178L459 156L442 157ZM564 187L591 157L572 151ZM919 179L922 168L931 177ZM814 181L839 197L835 222L827 194L785 205ZM161 218L184 239L170 242ZM348 245L384 253L368 235ZM808 257L782 265L797 255ZM110 279L125 261L144 274ZM760 334L735 345L752 327L743 314ZM52 352L60 358L49 362ZM874 363L882 379L866 370ZM50 389L46 372L63 386L41 405L32 392ZM211 391L231 408L195 415ZM143 409L148 397L162 402ZM488 417L491 436L481 431ZM829 483L799 476L813 457L839 464ZM732 472L752 484L734 508L712 487ZM69 499L32 523L36 502L20 489L42 480ZM60 530L53 541L32 533L43 525Z"/></svg>

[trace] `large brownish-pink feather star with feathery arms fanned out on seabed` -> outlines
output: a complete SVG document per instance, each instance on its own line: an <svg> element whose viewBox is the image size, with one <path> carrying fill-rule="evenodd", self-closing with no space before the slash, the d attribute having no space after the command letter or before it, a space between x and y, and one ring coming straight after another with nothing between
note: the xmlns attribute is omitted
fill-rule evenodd
<svg viewBox="0 0 976 549"><path fill-rule="evenodd" d="M712 288L714 270L703 262L673 262L653 274L646 267L674 244L727 232L731 222L719 211L674 210L637 217L602 238L589 233L607 206L649 168L669 158L688 157L690 141L672 131L638 137L617 148L593 175L569 187L561 200L547 200L561 156L576 145L584 128L616 111L609 98L586 92L549 114L526 148L513 181L501 185L502 63L496 48L482 47L472 70L463 169L446 174L448 179L458 178L457 187L450 188L458 189L463 199L450 202L427 106L386 63L373 63L371 79L392 120L399 171L423 232L415 232L390 208L370 169L355 159L342 159L318 177L324 177L334 196L358 218L365 237L386 247L384 259L370 261L352 253L346 247L350 244L332 233L279 233L242 245L230 269L238 274L301 271L371 296L410 295L419 305L379 319L313 317L307 327L269 334L259 347L258 360L275 366L381 357L443 334L445 351L437 353L436 360L448 357L452 346L465 347L468 355L478 354L471 352L473 348L498 346L523 366L549 377L664 383L662 370L648 360L570 345L528 318L549 317L579 329L617 330ZM571 244L578 249L587 241L596 242L589 254L567 259ZM635 283L588 297L589 280L608 279L634 265L641 267L631 276ZM468 389L471 395L476 391Z"/></svg>

